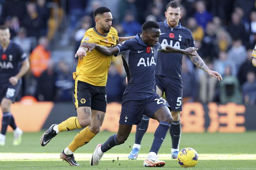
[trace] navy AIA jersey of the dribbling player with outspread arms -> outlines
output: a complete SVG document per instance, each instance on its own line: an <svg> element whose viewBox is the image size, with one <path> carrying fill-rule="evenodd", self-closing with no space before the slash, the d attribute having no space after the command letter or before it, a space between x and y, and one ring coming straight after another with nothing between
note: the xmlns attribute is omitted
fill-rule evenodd
<svg viewBox="0 0 256 170"><path fill-rule="evenodd" d="M161 50L158 42L148 47L137 34L135 38L126 40L116 46L122 54L128 85L125 93L156 93L155 68L157 52Z"/></svg>

